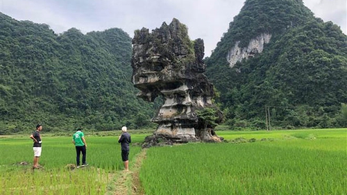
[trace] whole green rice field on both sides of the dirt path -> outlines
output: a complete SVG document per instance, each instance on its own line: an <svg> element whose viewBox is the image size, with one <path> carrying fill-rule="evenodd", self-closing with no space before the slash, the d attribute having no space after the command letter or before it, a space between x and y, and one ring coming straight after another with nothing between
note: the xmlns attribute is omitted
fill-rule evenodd
<svg viewBox="0 0 347 195"><path fill-rule="evenodd" d="M44 169L35 171L28 136L0 138L1 194L113 194L115 178L124 172L117 133L85 134L90 166L74 170L66 168L75 163L71 137L43 134ZM130 171L142 151L140 142L149 133L131 135ZM217 135L226 142L147 149L139 168L143 192L347 194L347 129L218 131Z"/></svg>

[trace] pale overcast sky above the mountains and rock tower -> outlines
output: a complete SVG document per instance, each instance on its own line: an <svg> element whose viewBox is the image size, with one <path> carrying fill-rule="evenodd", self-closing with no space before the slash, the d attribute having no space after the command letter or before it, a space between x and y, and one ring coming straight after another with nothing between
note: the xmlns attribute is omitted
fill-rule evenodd
<svg viewBox="0 0 347 195"><path fill-rule="evenodd" d="M191 40L202 38L205 57L228 30L246 0L0 0L0 12L17 20L51 26L55 33L75 27L82 33L121 28L130 37L142 27L159 28L175 17ZM305 6L347 34L346 0L303 0Z"/></svg>

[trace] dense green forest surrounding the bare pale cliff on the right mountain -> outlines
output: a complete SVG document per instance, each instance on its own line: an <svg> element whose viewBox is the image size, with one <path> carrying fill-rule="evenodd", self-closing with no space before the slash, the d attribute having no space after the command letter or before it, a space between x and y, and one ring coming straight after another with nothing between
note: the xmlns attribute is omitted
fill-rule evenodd
<svg viewBox="0 0 347 195"><path fill-rule="evenodd" d="M232 46L261 33L272 35L264 51L230 68ZM206 59L227 124L264 129L268 110L277 128L347 126L346 38L301 0L246 1Z"/></svg>

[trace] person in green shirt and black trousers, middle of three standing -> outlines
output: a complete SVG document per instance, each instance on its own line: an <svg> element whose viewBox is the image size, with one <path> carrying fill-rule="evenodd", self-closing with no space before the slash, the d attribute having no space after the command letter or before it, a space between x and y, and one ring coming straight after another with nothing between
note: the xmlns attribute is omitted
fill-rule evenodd
<svg viewBox="0 0 347 195"><path fill-rule="evenodd" d="M87 166L85 158L87 158L87 142L85 142L85 135L81 128L78 128L76 133L72 136L72 143L76 147L76 166L80 168L80 155L82 152L82 167Z"/></svg>

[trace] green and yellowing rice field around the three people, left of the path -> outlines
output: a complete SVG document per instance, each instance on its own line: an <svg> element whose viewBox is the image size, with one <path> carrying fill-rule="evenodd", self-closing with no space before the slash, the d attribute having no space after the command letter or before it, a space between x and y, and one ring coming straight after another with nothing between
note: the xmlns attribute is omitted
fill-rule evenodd
<svg viewBox="0 0 347 195"><path fill-rule="evenodd" d="M142 141L144 136L133 135L133 142ZM76 164L71 137L42 134L39 164L43 169L35 171L31 169L33 141L28 136L0 139L0 194L105 194L112 177L123 169L118 136L85 139L90 165L71 170L71 164ZM140 146L132 146L129 159L140 150Z"/></svg>

